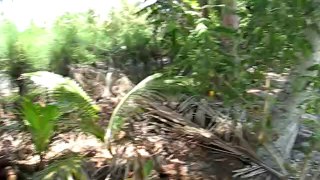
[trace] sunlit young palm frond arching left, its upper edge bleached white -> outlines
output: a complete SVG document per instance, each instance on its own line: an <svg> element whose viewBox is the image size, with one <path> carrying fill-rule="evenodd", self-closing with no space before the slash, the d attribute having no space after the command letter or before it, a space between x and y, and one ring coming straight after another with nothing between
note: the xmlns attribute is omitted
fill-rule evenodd
<svg viewBox="0 0 320 180"><path fill-rule="evenodd" d="M99 107L74 80L47 71L26 73L22 76L46 88L51 98L57 102L60 111L76 112L81 120L80 127L84 131L104 139L104 130L96 124Z"/></svg>

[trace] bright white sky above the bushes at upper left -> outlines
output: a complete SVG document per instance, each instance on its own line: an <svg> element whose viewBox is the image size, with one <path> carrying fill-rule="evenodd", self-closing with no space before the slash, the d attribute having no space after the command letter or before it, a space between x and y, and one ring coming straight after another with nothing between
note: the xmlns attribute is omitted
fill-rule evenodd
<svg viewBox="0 0 320 180"><path fill-rule="evenodd" d="M137 1L128 0L130 3ZM120 4L121 0L0 0L0 12L4 18L16 23L19 30L23 30L30 22L50 26L57 16L65 12L94 9L105 17L112 7L119 7Z"/></svg>

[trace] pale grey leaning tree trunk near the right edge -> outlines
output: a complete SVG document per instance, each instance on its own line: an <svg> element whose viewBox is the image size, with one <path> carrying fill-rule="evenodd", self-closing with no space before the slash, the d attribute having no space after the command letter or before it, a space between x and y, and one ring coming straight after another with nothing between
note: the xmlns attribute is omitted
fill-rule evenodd
<svg viewBox="0 0 320 180"><path fill-rule="evenodd" d="M280 166L290 157L298 134L299 119L303 113L299 105L310 95L306 91L294 91L293 86L299 84L299 87L304 87L308 80L299 77L302 75L316 76L316 72L308 71L307 68L320 63L320 34L312 29L307 29L306 34L313 47L313 54L309 59L297 65L295 72L290 76L288 87L286 87L287 92L278 96L278 103L272 111L272 132L275 138L272 142L265 143L265 147L275 150L272 155L277 158ZM259 154L262 158L270 157L262 148L259 149ZM275 166L274 162L267 159L266 161Z"/></svg>

